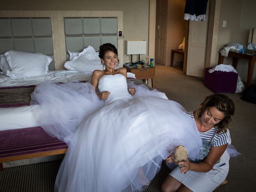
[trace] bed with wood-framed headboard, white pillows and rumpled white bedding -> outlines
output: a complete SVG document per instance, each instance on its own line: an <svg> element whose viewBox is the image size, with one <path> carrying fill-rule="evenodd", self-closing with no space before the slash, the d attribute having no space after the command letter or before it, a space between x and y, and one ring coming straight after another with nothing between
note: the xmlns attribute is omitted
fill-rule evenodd
<svg viewBox="0 0 256 192"><path fill-rule="evenodd" d="M29 106L36 84L90 82L92 71L103 67L97 52L101 44L110 42L118 48L122 67L120 11L0 11L0 28L0 131L38 126ZM128 78L142 83L134 74L128 73ZM62 157L4 163L4 167Z"/></svg>

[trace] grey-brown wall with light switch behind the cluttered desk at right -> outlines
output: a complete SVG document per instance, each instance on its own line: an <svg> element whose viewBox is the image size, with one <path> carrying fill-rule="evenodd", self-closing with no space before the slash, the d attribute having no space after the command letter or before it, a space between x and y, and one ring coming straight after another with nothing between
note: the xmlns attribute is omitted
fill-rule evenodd
<svg viewBox="0 0 256 192"><path fill-rule="evenodd" d="M249 30L256 28L255 10L255 0L222 0L217 50L230 43L247 46ZM222 28L223 20L227 21L226 28ZM216 61L218 61L218 53L216 54ZM244 82L247 81L247 63L247 60L239 59L237 65L238 74ZM224 64L232 65L232 58L225 58ZM252 84L256 84L256 68L254 68Z"/></svg>

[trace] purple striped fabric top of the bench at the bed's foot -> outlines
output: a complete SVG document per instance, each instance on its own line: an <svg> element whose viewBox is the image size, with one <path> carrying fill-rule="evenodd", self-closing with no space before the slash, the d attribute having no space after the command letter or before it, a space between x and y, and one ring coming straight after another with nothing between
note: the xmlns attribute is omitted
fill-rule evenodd
<svg viewBox="0 0 256 192"><path fill-rule="evenodd" d="M0 158L68 148L41 127L0 131L0 140Z"/></svg>

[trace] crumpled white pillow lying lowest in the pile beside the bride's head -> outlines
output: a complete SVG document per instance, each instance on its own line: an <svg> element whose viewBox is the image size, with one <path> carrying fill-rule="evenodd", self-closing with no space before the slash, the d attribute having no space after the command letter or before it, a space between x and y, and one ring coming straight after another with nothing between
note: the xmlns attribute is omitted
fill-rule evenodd
<svg viewBox="0 0 256 192"><path fill-rule="evenodd" d="M68 70L76 70L82 72L93 72L94 70L103 70L100 60L88 60L83 56L78 56L72 61L67 61L64 67Z"/></svg>

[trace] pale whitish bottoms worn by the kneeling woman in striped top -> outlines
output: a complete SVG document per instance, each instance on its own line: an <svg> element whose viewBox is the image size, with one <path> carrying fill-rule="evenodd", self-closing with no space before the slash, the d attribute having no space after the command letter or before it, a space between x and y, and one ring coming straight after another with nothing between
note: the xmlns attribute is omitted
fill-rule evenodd
<svg viewBox="0 0 256 192"><path fill-rule="evenodd" d="M186 175L176 167L169 175L194 192L212 192L227 177L229 162L218 164L207 173L188 171Z"/></svg>

